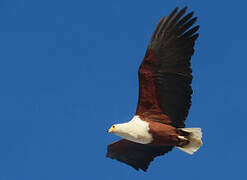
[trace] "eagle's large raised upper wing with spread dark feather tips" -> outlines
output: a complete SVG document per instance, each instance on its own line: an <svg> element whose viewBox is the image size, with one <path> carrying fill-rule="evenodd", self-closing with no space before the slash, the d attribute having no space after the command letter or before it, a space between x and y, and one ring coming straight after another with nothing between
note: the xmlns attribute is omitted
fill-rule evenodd
<svg viewBox="0 0 247 180"><path fill-rule="evenodd" d="M139 99L136 114L157 117L160 122L184 127L191 105L192 70L199 26L193 12L184 16L187 7L174 9L168 18L158 23L146 55L139 68ZM152 119L152 118L151 118ZM155 120L155 119L154 119Z"/></svg>

